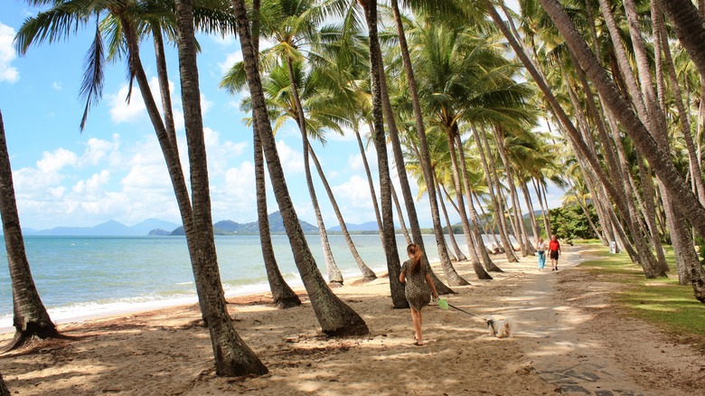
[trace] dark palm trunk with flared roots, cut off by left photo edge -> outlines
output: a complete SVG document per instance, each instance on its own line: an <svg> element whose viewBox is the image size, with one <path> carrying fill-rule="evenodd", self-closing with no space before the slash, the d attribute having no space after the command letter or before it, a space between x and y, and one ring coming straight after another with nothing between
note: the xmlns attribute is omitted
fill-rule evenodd
<svg viewBox="0 0 705 396"><path fill-rule="evenodd" d="M10 156L7 153L2 112L0 112L0 215L2 215L5 249L13 288L15 329L14 339L6 349L13 349L34 337L42 339L55 337L58 332L34 286L29 260L24 251L24 238L14 197L13 171L10 167ZM5 387L5 383L2 385Z"/></svg>

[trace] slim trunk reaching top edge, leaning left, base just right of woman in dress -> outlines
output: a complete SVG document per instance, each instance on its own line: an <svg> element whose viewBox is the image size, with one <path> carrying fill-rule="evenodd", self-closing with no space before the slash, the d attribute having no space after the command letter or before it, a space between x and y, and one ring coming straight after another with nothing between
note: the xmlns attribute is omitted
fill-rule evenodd
<svg viewBox="0 0 705 396"><path fill-rule="evenodd" d="M375 2L376 3L376 2ZM416 77L414 76L414 70L411 66L411 58L409 56L409 45L407 43L406 34L404 33L404 26L401 22L399 5L396 0L392 0L392 12L394 13L394 21L397 26L397 32L399 33L400 49L401 49L401 59L404 62L404 71L407 76L407 82L409 83L409 94L411 95L411 106L414 110L414 122L416 124L416 133L418 136L418 151L419 158L418 164L421 166L421 171L423 172L424 180L426 180L427 185L433 185L433 183L428 184L429 181L433 180L433 169L431 167L431 156L428 152L428 139L426 137L426 127L424 125L423 113L421 112L421 101L418 99L418 85L416 82ZM450 264L450 259L447 255L447 245L446 237L443 235L443 225L440 221L440 213L438 211L438 201L436 196L436 189L428 188L428 204L431 209L431 220L433 221L433 231L436 235L436 244L438 250L438 259L440 259L441 267L446 270L453 269ZM413 233L413 229L412 229ZM416 237L414 237L416 239ZM455 269L453 269L455 271ZM447 274L447 272L446 272ZM443 285L437 278L434 278L434 284L438 294L448 294L453 293L453 290ZM446 278L447 275L446 275Z"/></svg>

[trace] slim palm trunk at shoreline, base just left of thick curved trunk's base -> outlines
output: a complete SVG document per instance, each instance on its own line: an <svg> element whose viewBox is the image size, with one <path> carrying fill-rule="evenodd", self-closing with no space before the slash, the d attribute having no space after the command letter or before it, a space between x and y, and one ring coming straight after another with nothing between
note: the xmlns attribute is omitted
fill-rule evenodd
<svg viewBox="0 0 705 396"><path fill-rule="evenodd" d="M252 2L252 36L259 37L259 9L260 1ZM255 54L255 60L258 61L259 41L253 40L252 52ZM257 191L257 217L259 229L259 242L262 246L262 259L264 259L265 270L267 271L267 280L269 282L269 290L272 292L272 300L279 309L286 309L293 306L300 306L301 299L296 296L287 281L281 275L279 266L277 265L277 257L274 254L272 246L272 236L269 231L269 216L267 212L267 181L265 180L264 171L264 153L262 152L262 140L259 138L258 118L252 118L252 137L254 147L254 163L255 163L255 189Z"/></svg>

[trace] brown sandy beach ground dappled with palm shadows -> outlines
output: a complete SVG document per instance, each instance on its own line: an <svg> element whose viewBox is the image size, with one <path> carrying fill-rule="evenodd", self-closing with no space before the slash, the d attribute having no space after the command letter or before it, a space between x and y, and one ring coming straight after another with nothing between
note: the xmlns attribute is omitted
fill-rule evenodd
<svg viewBox="0 0 705 396"><path fill-rule="evenodd" d="M263 377L215 376L195 305L59 325L67 339L6 354L0 372L20 395L701 394L705 356L620 316L606 297L617 286L573 268L588 249L565 248L558 272L538 271L532 257L510 264L494 256L505 272L488 281L456 263L471 285L454 288L450 304L511 320L510 338L488 335L474 316L428 306L427 344L415 346L408 310L391 308L388 279L378 278L334 289L367 322L364 337L322 335L303 291L304 306L287 310L266 294L230 298L236 328L268 366Z"/></svg>

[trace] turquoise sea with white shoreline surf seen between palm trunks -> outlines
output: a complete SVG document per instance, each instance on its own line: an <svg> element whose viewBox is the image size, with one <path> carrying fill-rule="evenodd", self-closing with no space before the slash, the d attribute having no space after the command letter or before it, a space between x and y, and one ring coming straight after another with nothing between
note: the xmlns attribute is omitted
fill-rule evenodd
<svg viewBox="0 0 705 396"><path fill-rule="evenodd" d="M306 238L325 276L321 240L317 234ZM272 240L287 282L301 286L286 235ZM359 277L343 236L330 235L329 240L343 277ZM403 260L406 242L401 235L397 240ZM378 234L353 235L353 241L368 267L386 270ZM463 242L459 236L458 243ZM437 259L433 235L425 235L424 243L428 259ZM24 244L42 302L56 323L196 301L183 237L26 236ZM13 330L13 303L5 243L0 245L0 333L5 333ZM218 236L216 247L227 296L268 290L258 236Z"/></svg>

